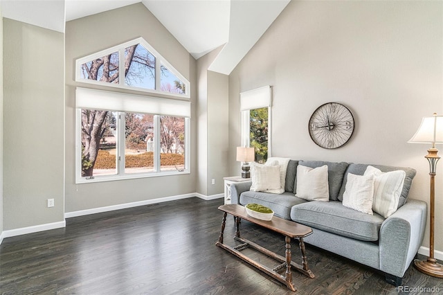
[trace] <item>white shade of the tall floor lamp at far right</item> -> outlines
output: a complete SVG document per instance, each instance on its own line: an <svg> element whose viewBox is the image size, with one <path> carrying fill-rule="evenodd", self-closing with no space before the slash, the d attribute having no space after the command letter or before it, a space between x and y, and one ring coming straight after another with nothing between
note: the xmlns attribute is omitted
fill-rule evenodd
<svg viewBox="0 0 443 295"><path fill-rule="evenodd" d="M443 116L424 117L408 143L443 143Z"/></svg>

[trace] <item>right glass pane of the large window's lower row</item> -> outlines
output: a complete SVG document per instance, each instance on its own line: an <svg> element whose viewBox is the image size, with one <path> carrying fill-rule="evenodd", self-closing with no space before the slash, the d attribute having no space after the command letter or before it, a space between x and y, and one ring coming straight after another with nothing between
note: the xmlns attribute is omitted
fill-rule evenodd
<svg viewBox="0 0 443 295"><path fill-rule="evenodd" d="M185 169L185 118L160 117L160 170Z"/></svg>

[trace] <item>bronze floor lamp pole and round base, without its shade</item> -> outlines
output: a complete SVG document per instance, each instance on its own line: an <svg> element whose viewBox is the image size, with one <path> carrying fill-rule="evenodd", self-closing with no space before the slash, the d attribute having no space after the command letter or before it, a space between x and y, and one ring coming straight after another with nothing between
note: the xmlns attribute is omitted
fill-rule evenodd
<svg viewBox="0 0 443 295"><path fill-rule="evenodd" d="M429 257L426 260L414 260L415 267L422 273L437 278L443 278L443 265L434 258L434 219L435 219L435 171L437 170L437 161L440 156L438 150L431 147L425 158L429 162L429 175L431 176L431 217L429 224Z"/></svg>

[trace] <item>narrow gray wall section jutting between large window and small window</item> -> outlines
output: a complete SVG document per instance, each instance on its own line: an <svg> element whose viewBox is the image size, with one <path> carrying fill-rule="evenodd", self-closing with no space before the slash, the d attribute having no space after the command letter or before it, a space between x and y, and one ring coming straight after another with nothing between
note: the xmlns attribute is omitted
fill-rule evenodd
<svg viewBox="0 0 443 295"><path fill-rule="evenodd" d="M208 67L222 46L197 60L197 193L223 193L228 176L228 76ZM215 184L212 184L212 180Z"/></svg>

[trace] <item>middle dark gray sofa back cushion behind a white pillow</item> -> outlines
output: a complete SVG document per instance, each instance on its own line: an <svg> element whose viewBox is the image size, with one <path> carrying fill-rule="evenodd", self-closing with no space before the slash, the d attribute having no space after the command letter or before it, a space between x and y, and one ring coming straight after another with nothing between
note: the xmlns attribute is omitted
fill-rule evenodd
<svg viewBox="0 0 443 295"><path fill-rule="evenodd" d="M327 165L327 179L329 184L329 199L336 201L338 199L338 193L343 183L343 176L345 175L348 163L334 163L327 161L298 161L299 165L307 166L311 168L317 168L323 165ZM364 171L363 171L364 172ZM354 173L355 174L355 173ZM361 174L363 175L363 173ZM297 186L296 186L297 188ZM344 189L343 189L344 191ZM297 192L294 192L297 193ZM343 196L343 193L341 194Z"/></svg>

